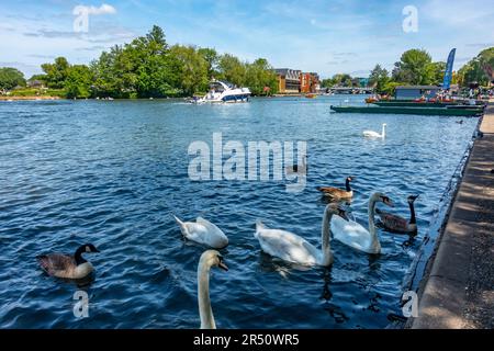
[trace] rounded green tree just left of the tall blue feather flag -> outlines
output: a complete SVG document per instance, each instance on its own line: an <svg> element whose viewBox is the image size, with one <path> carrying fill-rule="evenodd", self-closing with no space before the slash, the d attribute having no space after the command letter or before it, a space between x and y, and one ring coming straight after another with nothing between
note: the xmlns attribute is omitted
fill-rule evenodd
<svg viewBox="0 0 494 351"><path fill-rule="evenodd" d="M426 50L411 49L394 64L393 81L409 84L430 84L434 81L433 59Z"/></svg>

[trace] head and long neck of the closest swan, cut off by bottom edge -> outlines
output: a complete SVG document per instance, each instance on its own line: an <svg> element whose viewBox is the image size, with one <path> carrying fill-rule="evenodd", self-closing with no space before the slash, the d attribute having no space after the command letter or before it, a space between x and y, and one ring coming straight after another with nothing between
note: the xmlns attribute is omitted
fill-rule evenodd
<svg viewBox="0 0 494 351"><path fill-rule="evenodd" d="M220 252L207 250L201 254L198 265L198 304L201 329L216 329L210 299L210 270L212 267L228 270Z"/></svg>

